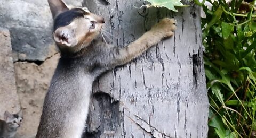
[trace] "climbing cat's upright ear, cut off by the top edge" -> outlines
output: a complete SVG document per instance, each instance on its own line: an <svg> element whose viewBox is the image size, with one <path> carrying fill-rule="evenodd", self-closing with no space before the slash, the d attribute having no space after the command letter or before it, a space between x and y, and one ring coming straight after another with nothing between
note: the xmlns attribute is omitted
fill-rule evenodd
<svg viewBox="0 0 256 138"><path fill-rule="evenodd" d="M54 19L57 15L62 12L68 11L68 7L61 0L48 0L50 10L52 12L52 18Z"/></svg>

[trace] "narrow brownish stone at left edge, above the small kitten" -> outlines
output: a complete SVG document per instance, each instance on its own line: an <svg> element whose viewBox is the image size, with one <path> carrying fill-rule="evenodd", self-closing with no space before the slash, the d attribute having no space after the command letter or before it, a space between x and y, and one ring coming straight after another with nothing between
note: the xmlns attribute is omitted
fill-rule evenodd
<svg viewBox="0 0 256 138"><path fill-rule="evenodd" d="M10 32L0 28L0 119L5 110L14 114L20 110L12 60Z"/></svg>

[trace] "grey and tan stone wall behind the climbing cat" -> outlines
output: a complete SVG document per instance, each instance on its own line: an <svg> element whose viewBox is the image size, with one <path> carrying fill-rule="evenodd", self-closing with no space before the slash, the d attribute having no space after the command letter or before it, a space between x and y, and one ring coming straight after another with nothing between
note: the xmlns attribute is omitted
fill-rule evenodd
<svg viewBox="0 0 256 138"><path fill-rule="evenodd" d="M82 0L66 3L82 6ZM11 36L12 44L3 43L5 38L0 37L1 44L9 46L9 50L12 46L12 53L10 51L3 57L5 61L10 59L3 67L11 63L13 69L14 65L17 94L23 108L24 121L18 137L33 137L39 124L44 95L59 58L58 50L51 38L52 15L47 0L1 0L0 19L0 27L10 30L9 38ZM1 64L3 64L2 58ZM5 110L15 113L20 109L14 71L11 73L13 75L6 75L9 79L13 79L12 85L3 85L3 88L9 89L14 95L7 93L9 97L6 97L2 88L0 89L0 119L3 119L1 117Z"/></svg>

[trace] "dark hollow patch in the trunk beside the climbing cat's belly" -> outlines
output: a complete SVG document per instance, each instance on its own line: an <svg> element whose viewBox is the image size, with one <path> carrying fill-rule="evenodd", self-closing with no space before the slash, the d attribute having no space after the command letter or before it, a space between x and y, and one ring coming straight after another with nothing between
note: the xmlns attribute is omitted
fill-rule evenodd
<svg viewBox="0 0 256 138"><path fill-rule="evenodd" d="M89 111L87 119L87 122L91 124L89 123L87 128L94 128L94 131L87 129L83 137L100 137L102 133L114 136L114 129L120 125L120 120L122 120L120 118L119 101L114 101L105 92L94 93L91 101L92 110ZM97 120L92 121L92 118L97 118Z"/></svg>

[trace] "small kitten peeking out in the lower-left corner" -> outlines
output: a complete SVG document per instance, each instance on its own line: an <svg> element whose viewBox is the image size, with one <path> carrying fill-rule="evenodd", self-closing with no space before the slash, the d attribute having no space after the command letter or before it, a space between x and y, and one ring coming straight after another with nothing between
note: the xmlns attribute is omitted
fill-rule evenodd
<svg viewBox="0 0 256 138"><path fill-rule="evenodd" d="M4 120L0 120L0 138L12 138L22 123L22 110L17 114L4 113Z"/></svg>

